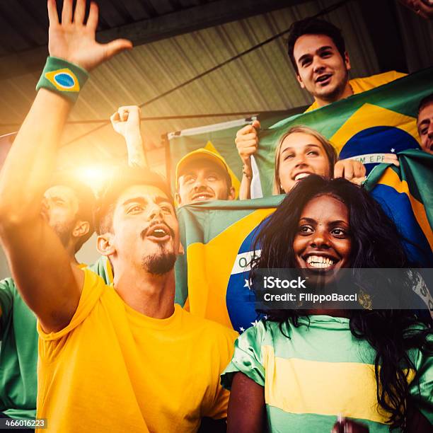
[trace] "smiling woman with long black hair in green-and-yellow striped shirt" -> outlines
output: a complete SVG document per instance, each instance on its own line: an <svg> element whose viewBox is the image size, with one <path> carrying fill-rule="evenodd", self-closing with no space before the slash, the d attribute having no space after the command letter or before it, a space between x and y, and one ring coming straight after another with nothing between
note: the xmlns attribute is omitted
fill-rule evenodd
<svg viewBox="0 0 433 433"><path fill-rule="evenodd" d="M396 226L368 193L317 175L291 190L253 249L261 249L253 283L260 268L410 266ZM231 388L229 432L263 432L265 425L270 432L338 432L343 425L353 432L431 431L431 321L411 310L374 308L267 315L238 338L222 376ZM338 415L344 420L336 422Z"/></svg>

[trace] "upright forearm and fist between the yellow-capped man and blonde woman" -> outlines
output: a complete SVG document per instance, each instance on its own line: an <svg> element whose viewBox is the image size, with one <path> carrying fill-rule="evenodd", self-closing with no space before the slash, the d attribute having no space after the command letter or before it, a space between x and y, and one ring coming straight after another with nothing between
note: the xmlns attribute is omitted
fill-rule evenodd
<svg viewBox="0 0 433 433"><path fill-rule="evenodd" d="M236 148L242 161L242 180L239 188L239 200L251 198L251 182L253 180L253 168L251 166L251 156L258 148L258 129L260 122L255 120L251 125L246 125L236 133Z"/></svg>

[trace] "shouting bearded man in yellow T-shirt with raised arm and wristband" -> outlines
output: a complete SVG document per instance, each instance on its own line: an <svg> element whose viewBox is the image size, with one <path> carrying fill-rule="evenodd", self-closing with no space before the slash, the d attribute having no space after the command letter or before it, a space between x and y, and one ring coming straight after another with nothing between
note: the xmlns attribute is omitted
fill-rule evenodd
<svg viewBox="0 0 433 433"><path fill-rule="evenodd" d="M219 374L236 333L174 305L181 247L166 183L125 168L103 194L98 250L112 263L114 286L71 264L40 214L87 71L131 48L98 44L96 4L83 24L85 11L85 0L75 11L64 0L60 24L48 1L51 57L0 176L1 243L38 319L37 417L48 432L196 432L202 417L226 417Z"/></svg>

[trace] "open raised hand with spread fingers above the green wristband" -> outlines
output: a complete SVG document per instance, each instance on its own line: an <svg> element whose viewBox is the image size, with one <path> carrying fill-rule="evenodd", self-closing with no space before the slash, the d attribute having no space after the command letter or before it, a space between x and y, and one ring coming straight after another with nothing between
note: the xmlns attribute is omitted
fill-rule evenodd
<svg viewBox="0 0 433 433"><path fill-rule="evenodd" d="M86 0L77 0L75 11L72 0L64 0L62 23L59 23L55 0L48 0L48 50L50 55L60 57L90 71L123 50L132 48L132 42L116 39L107 44L96 42L98 6L91 2L87 23L84 23Z"/></svg>

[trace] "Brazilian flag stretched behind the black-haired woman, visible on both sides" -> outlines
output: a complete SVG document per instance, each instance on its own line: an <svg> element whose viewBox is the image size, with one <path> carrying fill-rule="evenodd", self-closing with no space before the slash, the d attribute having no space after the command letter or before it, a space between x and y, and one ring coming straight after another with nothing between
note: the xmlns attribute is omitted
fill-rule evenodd
<svg viewBox="0 0 433 433"><path fill-rule="evenodd" d="M365 187L411 241L405 243L410 259L432 267L433 156L412 149L401 152L399 161L399 168L376 166ZM185 255L176 263L178 304L238 332L255 323L258 315L248 287L253 240L283 199L277 195L180 207Z"/></svg>

